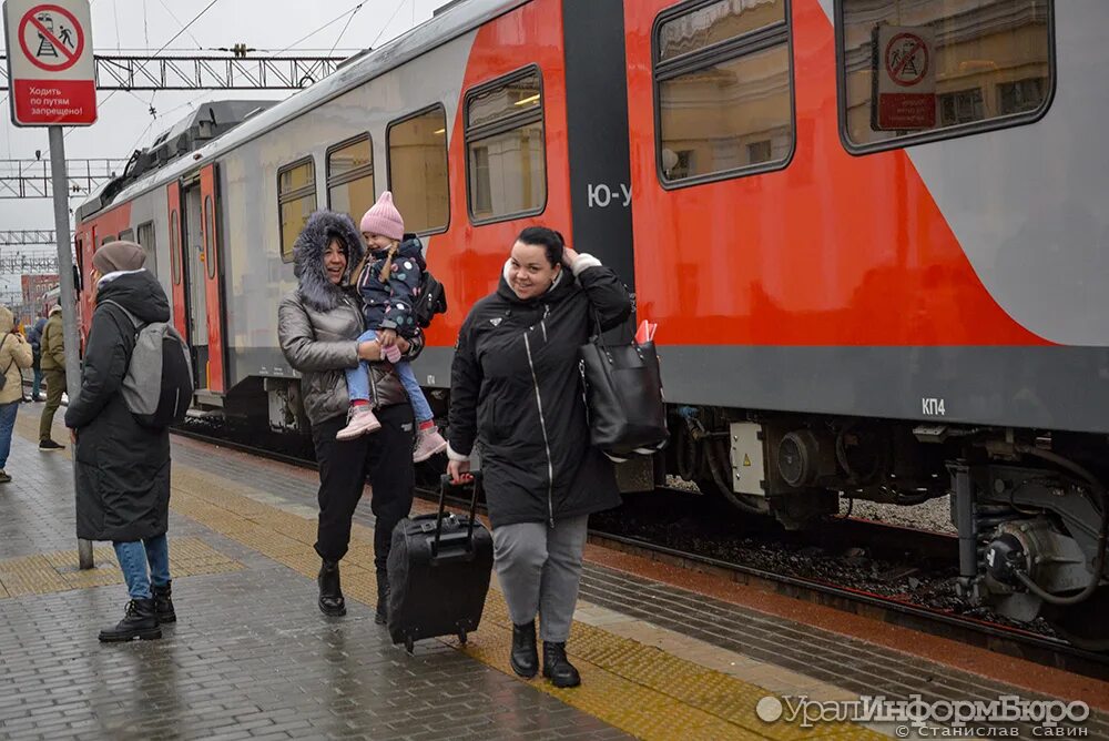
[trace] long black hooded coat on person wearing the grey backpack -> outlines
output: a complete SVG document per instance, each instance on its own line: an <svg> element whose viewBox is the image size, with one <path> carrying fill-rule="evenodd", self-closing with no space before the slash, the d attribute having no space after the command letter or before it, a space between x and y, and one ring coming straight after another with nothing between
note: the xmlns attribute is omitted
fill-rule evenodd
<svg viewBox="0 0 1109 741"><path fill-rule="evenodd" d="M78 430L77 536L141 540L166 531L170 512L170 430L143 427L120 393L135 329L111 300L142 322L169 322L170 303L149 271L106 276L81 370L81 393L65 410Z"/></svg>

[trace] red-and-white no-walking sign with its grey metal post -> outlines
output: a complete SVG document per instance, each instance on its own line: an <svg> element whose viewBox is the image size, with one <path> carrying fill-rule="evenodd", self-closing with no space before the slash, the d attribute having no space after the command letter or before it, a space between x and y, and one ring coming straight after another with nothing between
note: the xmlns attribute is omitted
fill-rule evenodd
<svg viewBox="0 0 1109 741"><path fill-rule="evenodd" d="M81 389L81 343L77 331L77 292L70 248L69 177L63 125L96 121L95 60L89 0L7 0L3 3L8 47L11 118L17 126L49 126L50 173L58 237L58 276L65 338L69 397ZM73 455L74 470L77 455ZM95 565L92 542L78 540L82 569Z"/></svg>

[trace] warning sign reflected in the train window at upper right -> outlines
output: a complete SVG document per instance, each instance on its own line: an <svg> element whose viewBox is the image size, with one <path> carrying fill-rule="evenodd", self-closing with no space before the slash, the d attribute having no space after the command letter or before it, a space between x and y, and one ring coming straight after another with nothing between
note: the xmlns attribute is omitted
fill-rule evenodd
<svg viewBox="0 0 1109 741"><path fill-rule="evenodd" d="M875 40L874 128L913 131L936 125L935 33L882 26Z"/></svg>

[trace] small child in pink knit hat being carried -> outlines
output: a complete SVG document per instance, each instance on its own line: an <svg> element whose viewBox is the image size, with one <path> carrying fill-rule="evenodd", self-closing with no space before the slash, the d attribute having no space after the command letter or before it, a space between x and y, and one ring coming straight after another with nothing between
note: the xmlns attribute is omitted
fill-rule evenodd
<svg viewBox="0 0 1109 741"><path fill-rule="evenodd" d="M413 460L419 463L446 450L447 440L439 435L416 374L400 359L400 348L396 345L398 335L410 338L419 332L413 302L424 270L419 240L404 240L404 220L393 205L393 194L386 191L362 217L362 235L369 250L353 275L357 276L366 325L372 327L358 341L376 339L380 344L381 355L393 363L408 392L418 429ZM352 414L349 424L335 436L338 440L349 440L381 426L369 403L369 364L363 361L357 368L347 370L346 376Z"/></svg>

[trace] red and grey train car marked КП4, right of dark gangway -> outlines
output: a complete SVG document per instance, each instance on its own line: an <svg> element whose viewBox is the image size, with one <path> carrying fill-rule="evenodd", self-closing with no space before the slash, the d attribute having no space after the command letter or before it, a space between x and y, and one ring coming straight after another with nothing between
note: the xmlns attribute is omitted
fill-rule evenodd
<svg viewBox="0 0 1109 741"><path fill-rule="evenodd" d="M679 455L719 446L685 468L791 524L953 490L962 587L1109 647L1109 4L624 17L638 306Z"/></svg>

